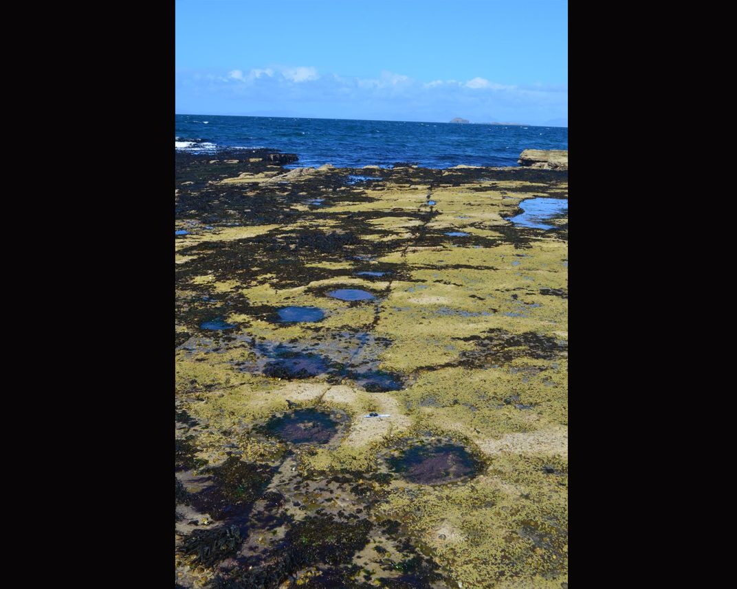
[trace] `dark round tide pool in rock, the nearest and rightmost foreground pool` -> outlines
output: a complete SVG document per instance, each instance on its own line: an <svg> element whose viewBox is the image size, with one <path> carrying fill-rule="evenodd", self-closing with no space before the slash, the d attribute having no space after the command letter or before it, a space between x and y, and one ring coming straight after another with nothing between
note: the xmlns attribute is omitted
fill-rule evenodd
<svg viewBox="0 0 737 589"><path fill-rule="evenodd" d="M444 484L470 479L483 462L450 440L413 440L386 459L391 470L409 482Z"/></svg>

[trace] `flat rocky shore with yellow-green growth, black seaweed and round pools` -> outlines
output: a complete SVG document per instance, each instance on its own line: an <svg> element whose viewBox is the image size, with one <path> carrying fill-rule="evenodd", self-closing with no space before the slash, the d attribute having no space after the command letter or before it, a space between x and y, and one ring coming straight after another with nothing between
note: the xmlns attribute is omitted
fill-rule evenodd
<svg viewBox="0 0 737 589"><path fill-rule="evenodd" d="M509 221L567 152L529 151L176 154L179 586L567 587L567 214Z"/></svg>

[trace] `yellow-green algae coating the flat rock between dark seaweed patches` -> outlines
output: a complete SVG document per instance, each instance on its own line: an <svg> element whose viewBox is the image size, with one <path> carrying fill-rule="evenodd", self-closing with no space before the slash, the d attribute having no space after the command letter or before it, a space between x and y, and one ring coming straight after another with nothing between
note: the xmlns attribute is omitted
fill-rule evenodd
<svg viewBox="0 0 737 589"><path fill-rule="evenodd" d="M337 202L312 211L312 220L223 228L177 241L179 252L203 241L283 236L315 228L340 231L346 214L372 214L360 239L390 246L397 241L395 250L371 261L395 269L380 280L352 275L366 264L326 256L324 261L306 258L304 266L345 270L344 275L288 288L281 286L282 276L275 272L247 281L198 275L191 283L212 294L237 293L252 306L318 306L326 311L322 329L366 330L389 339L391 345L380 353L380 369L405 375L405 389L366 392L349 379L331 384L319 377L277 381L234 368L233 362L248 357L251 350L178 350L179 404L206 424L206 431L193 431L198 457L211 464L226 456L226 444L236 445L248 460L280 456L281 442L252 437L248 428L286 411L289 403L341 409L351 418L335 444L297 453L302 473L382 470L377 455L407 437L431 433L464 442L484 457L485 472L470 481L432 487L395 479L376 515L402 521L413 541L463 588L559 588L567 582L567 355L534 358L520 347L513 359L483 366L464 359L475 353L478 340L472 338L490 330L534 333L565 344L567 298L540 291L567 292L567 239L528 230L520 247L506 239L510 230L517 230L506 217L534 191L567 197L567 183L447 184L454 177L462 182L464 172L442 172L441 186L431 192L437 203L432 216L425 204L430 194L426 183L386 181L363 188L362 202L340 202L343 189L338 189L332 193ZM223 183L263 183L275 175L241 174ZM428 214L417 219L402 211ZM567 218L555 223L567 227ZM425 245L408 241L419 230L438 235L464 231L469 237ZM178 254L176 262L187 264L196 257ZM326 290L335 285L368 289L379 298L355 305L326 297ZM225 318L239 325L234 336L268 342L309 342L314 336L310 323L279 325L237 311ZM178 331L184 328L178 325ZM363 417L371 411L390 417Z"/></svg>

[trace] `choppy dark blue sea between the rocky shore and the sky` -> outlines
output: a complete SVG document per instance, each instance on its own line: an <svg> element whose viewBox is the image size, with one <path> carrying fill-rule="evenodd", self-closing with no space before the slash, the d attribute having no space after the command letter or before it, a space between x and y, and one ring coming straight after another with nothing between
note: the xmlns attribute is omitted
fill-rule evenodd
<svg viewBox="0 0 737 589"><path fill-rule="evenodd" d="M286 167L392 166L427 168L516 166L523 149L568 149L567 127L533 127L175 115L175 148L189 152L268 147L296 153Z"/></svg>

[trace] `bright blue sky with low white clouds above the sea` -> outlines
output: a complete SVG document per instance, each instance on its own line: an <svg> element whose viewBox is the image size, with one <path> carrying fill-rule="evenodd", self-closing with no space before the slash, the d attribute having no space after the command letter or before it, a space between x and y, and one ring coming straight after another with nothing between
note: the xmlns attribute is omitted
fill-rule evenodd
<svg viewBox="0 0 737 589"><path fill-rule="evenodd" d="M178 0L179 114L566 124L567 1Z"/></svg>

